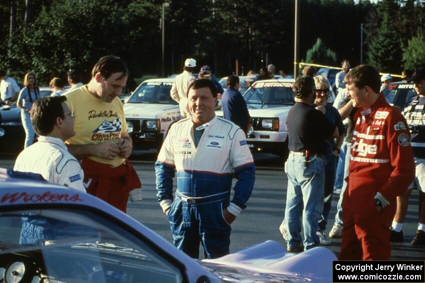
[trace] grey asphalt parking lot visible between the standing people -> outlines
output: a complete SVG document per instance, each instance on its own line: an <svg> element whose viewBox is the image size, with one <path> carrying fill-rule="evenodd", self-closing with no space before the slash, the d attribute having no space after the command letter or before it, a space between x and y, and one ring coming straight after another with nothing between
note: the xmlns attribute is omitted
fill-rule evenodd
<svg viewBox="0 0 425 283"><path fill-rule="evenodd" d="M0 167L13 167L16 153L0 153ZM156 189L153 163L155 151L135 151L130 158L142 181L143 200L128 203L130 216L149 227L168 241L172 241L168 222L156 201ZM282 170L282 162L272 154L255 153L257 166L254 191L244 210L232 224L230 251L236 252L247 246L266 240L283 241L278 226L283 218L286 200L287 177ZM175 184L175 182L174 182ZM333 195L329 223L331 229L336 212L337 195ZM425 260L425 249L413 248L413 239L417 225L418 194L413 192L409 200L409 208L404 224L404 243L394 244L391 260ZM332 239L327 246L336 255L340 249L340 239ZM202 255L200 253L200 255Z"/></svg>

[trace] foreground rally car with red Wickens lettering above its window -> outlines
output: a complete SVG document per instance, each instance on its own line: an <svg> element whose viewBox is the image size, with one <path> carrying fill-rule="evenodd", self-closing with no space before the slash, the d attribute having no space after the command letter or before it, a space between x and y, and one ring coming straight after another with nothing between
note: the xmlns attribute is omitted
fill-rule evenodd
<svg viewBox="0 0 425 283"><path fill-rule="evenodd" d="M30 175L0 169L0 282L332 281L326 248L295 255L266 241L197 261L102 200Z"/></svg>

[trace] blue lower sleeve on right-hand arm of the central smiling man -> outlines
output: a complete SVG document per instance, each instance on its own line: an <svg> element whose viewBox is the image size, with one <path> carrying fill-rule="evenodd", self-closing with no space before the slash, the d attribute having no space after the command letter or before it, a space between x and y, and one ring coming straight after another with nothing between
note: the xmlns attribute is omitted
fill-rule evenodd
<svg viewBox="0 0 425 283"><path fill-rule="evenodd" d="M234 175L237 182L234 185L234 196L231 202L241 209L245 209L245 203L248 201L254 188L255 165L249 163L235 168Z"/></svg>

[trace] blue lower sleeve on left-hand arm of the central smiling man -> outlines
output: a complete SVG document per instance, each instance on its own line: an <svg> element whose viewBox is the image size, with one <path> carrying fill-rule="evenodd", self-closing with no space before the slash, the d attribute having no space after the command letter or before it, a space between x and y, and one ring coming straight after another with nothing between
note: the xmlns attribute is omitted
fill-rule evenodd
<svg viewBox="0 0 425 283"><path fill-rule="evenodd" d="M172 200L172 178L174 178L174 166L155 162L156 196L158 202Z"/></svg>

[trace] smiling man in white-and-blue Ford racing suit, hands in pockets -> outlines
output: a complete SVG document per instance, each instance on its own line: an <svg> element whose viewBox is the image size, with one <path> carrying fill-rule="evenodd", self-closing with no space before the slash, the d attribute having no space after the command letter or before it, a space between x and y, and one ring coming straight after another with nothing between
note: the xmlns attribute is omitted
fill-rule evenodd
<svg viewBox="0 0 425 283"><path fill-rule="evenodd" d="M229 253L230 224L246 208L255 166L243 131L215 116L214 84L193 81L187 97L192 117L171 126L155 163L157 197L174 245L198 258L200 242L205 258L214 259ZM230 201L233 177L237 182Z"/></svg>

